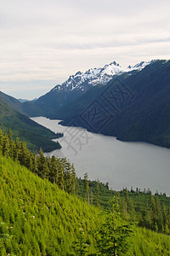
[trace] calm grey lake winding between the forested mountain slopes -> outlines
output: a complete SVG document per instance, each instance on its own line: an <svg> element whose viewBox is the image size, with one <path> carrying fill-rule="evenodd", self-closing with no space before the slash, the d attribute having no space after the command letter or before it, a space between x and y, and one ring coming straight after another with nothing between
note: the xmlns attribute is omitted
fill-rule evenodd
<svg viewBox="0 0 170 256"><path fill-rule="evenodd" d="M170 149L149 143L125 143L79 127L59 125L59 120L31 118L54 132L64 132L57 139L59 150L46 154L66 157L74 163L77 177L88 172L90 180L109 182L111 189L149 189L170 195Z"/></svg>

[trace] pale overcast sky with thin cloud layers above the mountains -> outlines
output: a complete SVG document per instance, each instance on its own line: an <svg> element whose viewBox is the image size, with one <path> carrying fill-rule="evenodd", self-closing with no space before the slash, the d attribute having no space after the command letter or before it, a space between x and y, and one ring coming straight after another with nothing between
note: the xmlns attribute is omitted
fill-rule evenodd
<svg viewBox="0 0 170 256"><path fill-rule="evenodd" d="M34 99L71 74L170 59L169 0L0 0L0 90Z"/></svg>

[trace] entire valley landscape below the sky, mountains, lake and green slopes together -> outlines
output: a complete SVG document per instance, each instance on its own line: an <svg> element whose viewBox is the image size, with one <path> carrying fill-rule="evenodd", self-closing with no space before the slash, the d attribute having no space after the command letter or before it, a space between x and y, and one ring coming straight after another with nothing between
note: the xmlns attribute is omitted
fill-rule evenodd
<svg viewBox="0 0 170 256"><path fill-rule="evenodd" d="M2 256L168 255L169 68L113 61L34 101L0 92Z"/></svg>

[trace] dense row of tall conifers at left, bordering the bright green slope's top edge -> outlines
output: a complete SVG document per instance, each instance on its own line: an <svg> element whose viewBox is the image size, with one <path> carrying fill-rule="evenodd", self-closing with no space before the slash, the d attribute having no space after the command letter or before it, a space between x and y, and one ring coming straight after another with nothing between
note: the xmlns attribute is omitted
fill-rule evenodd
<svg viewBox="0 0 170 256"><path fill-rule="evenodd" d="M0 130L0 154L18 161L21 166L26 166L39 177L47 178L51 183L56 183L59 189L75 195L77 176L75 167L66 158L44 156L42 148L39 154L32 153L26 143L17 137L13 140L12 131Z"/></svg>

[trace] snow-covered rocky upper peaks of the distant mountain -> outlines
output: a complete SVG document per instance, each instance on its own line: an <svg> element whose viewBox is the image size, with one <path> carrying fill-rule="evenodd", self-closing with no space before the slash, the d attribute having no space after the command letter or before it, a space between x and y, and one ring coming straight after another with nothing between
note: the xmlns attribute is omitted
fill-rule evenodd
<svg viewBox="0 0 170 256"><path fill-rule="evenodd" d="M150 61L151 62L151 61ZM102 68L90 68L85 73L78 71L75 75L71 75L69 79L63 84L58 84L52 89L54 90L87 90L89 87L97 84L107 84L114 75L120 75L122 73L132 73L133 71L141 71L144 67L150 64L150 62L140 62L134 67L128 66L122 68L116 61L105 65Z"/></svg>

